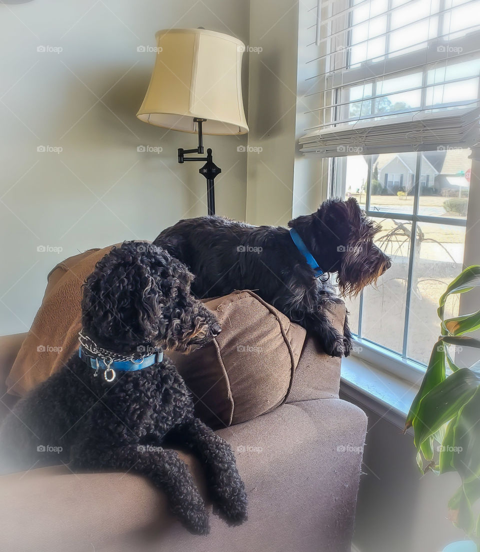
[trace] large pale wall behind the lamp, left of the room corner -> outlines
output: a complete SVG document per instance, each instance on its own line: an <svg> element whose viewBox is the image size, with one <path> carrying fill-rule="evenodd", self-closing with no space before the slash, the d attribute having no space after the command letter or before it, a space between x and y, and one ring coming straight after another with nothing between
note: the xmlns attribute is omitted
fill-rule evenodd
<svg viewBox="0 0 480 552"><path fill-rule="evenodd" d="M204 26L248 44L249 1L0 3L0 334L28 330L61 259L153 239L181 217L206 213L201 165L180 166L176 157L195 137L135 118L155 56L137 47L154 46L155 31L170 26ZM222 169L217 212L238 219L245 219L247 155L237 147L246 140L204 140ZM138 152L140 145L163 151Z"/></svg>

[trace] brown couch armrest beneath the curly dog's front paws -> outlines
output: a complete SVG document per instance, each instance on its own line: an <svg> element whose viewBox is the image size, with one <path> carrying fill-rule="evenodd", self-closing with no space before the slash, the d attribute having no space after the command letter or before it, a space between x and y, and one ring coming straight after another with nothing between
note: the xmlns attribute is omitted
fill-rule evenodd
<svg viewBox="0 0 480 552"><path fill-rule="evenodd" d="M242 526L212 516L210 535L194 536L143 477L72 474L61 466L0 477L0 549L349 550L366 433L359 408L340 399L283 404L218 433L231 444L245 481L249 521ZM201 468L186 458L197 479Z"/></svg>

